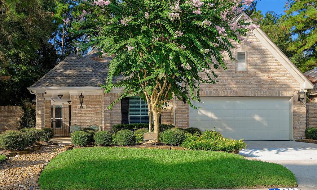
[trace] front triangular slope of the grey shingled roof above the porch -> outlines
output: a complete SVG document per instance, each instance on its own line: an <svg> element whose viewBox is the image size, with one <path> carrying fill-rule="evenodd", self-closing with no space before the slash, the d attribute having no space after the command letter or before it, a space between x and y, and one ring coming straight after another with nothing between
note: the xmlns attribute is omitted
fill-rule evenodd
<svg viewBox="0 0 317 190"><path fill-rule="evenodd" d="M99 87L106 78L71 53L30 87Z"/></svg>

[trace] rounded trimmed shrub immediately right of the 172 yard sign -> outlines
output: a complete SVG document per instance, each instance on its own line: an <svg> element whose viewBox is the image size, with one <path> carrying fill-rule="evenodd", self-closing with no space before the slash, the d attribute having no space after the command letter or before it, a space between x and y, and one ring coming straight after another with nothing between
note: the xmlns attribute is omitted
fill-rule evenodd
<svg viewBox="0 0 317 190"><path fill-rule="evenodd" d="M184 140L184 130L179 128L167 129L163 132L163 143L167 145L179 145Z"/></svg>

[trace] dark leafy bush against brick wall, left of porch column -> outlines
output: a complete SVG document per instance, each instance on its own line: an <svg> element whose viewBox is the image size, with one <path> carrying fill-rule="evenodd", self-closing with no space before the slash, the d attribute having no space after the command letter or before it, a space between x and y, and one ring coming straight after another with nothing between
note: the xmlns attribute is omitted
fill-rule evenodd
<svg viewBox="0 0 317 190"><path fill-rule="evenodd" d="M23 114L18 121L18 129L35 127L35 105L25 98L21 101L21 109Z"/></svg>

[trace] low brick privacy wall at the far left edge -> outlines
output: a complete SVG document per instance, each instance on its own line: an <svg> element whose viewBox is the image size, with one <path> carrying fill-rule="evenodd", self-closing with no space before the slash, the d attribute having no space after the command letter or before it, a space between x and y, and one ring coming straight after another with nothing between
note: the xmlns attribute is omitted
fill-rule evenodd
<svg viewBox="0 0 317 190"><path fill-rule="evenodd" d="M6 130L16 130L17 121L22 116L23 111L17 105L3 105L0 106L0 133Z"/></svg>

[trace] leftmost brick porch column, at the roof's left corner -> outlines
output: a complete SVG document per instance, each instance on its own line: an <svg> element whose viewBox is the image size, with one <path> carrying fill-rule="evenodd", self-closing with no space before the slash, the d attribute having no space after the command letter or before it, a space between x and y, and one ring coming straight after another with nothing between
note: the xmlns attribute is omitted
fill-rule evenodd
<svg viewBox="0 0 317 190"><path fill-rule="evenodd" d="M45 128L44 93L36 94L36 129Z"/></svg>

